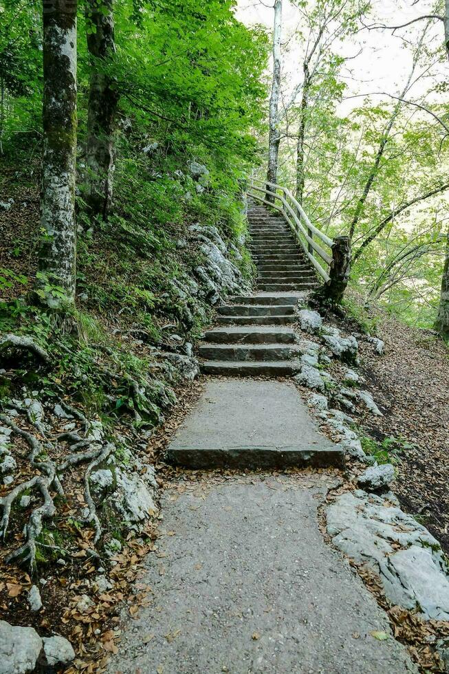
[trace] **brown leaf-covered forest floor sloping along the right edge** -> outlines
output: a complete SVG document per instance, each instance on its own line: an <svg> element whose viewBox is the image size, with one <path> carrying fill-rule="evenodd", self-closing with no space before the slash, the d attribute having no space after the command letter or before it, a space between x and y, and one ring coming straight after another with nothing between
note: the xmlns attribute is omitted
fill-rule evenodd
<svg viewBox="0 0 449 674"><path fill-rule="evenodd" d="M382 409L364 420L366 434L382 444L400 439L395 493L449 554L449 351L430 330L377 310L383 356L360 341L360 371Z"/></svg>

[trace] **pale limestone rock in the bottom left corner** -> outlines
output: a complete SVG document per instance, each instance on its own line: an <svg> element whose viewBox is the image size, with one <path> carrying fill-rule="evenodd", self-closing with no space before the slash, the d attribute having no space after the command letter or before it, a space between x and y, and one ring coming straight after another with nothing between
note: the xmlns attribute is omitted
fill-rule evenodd
<svg viewBox="0 0 449 674"><path fill-rule="evenodd" d="M0 674L28 674L41 654L42 640L32 627L0 620Z"/></svg>

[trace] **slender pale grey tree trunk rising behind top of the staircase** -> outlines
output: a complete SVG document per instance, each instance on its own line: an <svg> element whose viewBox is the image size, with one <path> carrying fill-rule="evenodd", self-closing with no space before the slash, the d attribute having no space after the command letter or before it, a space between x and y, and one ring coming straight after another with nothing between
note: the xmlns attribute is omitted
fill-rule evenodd
<svg viewBox="0 0 449 674"><path fill-rule="evenodd" d="M279 131L279 93L281 91L281 31L282 31L282 0L274 2L274 30L273 30L273 80L270 96L270 134L268 137L268 170L267 182L275 183L278 175L278 154L281 142ZM267 190L270 187L267 185ZM266 195L268 202L274 202L274 197Z"/></svg>

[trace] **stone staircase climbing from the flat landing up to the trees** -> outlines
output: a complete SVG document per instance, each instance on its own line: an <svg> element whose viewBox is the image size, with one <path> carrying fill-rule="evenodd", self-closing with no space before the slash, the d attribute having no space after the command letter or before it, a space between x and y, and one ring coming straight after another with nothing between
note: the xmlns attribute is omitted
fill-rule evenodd
<svg viewBox="0 0 449 674"><path fill-rule="evenodd" d="M300 369L294 323L298 298L316 276L282 217L251 206L250 250L257 292L218 309L219 327L199 347L202 371L223 375L285 376Z"/></svg>

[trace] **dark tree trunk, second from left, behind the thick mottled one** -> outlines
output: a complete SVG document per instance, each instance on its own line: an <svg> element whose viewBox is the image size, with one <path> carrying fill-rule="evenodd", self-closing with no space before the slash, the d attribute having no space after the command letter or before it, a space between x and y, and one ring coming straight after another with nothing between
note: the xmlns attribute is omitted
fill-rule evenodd
<svg viewBox="0 0 449 674"><path fill-rule="evenodd" d="M116 52L113 0L87 0L87 47L91 55L87 113L87 186L85 199L91 214L107 217L111 209L114 171L114 124L118 94L100 61ZM90 30L89 30L90 29Z"/></svg>

